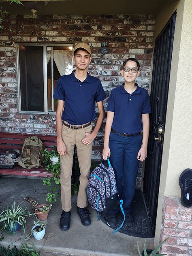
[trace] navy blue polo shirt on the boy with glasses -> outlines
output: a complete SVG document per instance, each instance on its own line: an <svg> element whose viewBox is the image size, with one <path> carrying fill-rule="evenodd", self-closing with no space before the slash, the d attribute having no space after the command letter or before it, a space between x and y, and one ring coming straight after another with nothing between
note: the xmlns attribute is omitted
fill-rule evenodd
<svg viewBox="0 0 192 256"><path fill-rule="evenodd" d="M141 132L142 114L151 113L149 94L146 89L139 87L129 94L124 84L114 88L109 97L107 111L115 112L112 128L121 133L134 134Z"/></svg>

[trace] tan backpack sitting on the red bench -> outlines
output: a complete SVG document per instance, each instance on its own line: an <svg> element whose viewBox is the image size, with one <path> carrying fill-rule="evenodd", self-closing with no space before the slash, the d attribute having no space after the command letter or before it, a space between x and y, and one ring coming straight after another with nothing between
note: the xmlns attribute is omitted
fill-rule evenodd
<svg viewBox="0 0 192 256"><path fill-rule="evenodd" d="M42 150L43 143L39 137L31 136L26 138L21 150L22 159L18 164L26 169L38 168L41 166Z"/></svg>

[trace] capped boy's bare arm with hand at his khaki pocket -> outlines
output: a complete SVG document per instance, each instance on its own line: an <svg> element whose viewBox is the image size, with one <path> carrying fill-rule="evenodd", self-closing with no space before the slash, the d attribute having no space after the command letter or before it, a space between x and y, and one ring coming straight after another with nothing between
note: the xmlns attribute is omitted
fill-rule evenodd
<svg viewBox="0 0 192 256"><path fill-rule="evenodd" d="M89 145L96 138L98 131L102 125L103 119L105 117L105 110L103 107L103 102L98 101L97 107L98 107L98 111L99 111L99 117L97 119L96 126L95 126L94 130L92 131L92 133L87 133L87 132L85 133L86 137L84 139L82 139L82 143L85 145Z"/></svg>

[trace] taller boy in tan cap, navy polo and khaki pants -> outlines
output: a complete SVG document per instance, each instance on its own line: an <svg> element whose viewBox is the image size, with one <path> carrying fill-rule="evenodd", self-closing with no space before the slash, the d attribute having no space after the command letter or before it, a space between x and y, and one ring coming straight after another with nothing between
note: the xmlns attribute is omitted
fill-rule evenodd
<svg viewBox="0 0 192 256"><path fill-rule="evenodd" d="M105 117L103 100L106 98L98 78L87 73L92 57L90 46L79 43L74 48L73 60L76 69L70 75L58 79L53 98L58 99L56 112L57 150L61 158L61 200L62 214L60 228L70 227L71 210L71 174L74 146L80 168L80 185L77 197L77 213L84 226L91 224L90 212L86 209L87 184L90 176L92 141ZM95 101L99 117L92 131L91 122L95 119Z"/></svg>

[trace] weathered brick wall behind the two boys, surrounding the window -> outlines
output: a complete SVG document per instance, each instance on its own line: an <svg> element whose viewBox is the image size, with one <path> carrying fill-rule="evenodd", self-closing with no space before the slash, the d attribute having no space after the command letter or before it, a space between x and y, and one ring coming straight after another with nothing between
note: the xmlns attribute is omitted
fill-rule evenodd
<svg viewBox="0 0 192 256"><path fill-rule="evenodd" d="M154 15L13 15L7 16L0 31L0 126L1 131L55 134L55 115L19 113L17 83L17 42L72 43L84 41L92 47L90 75L98 77L106 92L122 84L120 68L125 59L141 63L139 86L149 87ZM109 42L103 55L101 42ZM98 114L98 113L97 113ZM93 123L94 125L94 123ZM94 160L101 159L104 127L94 141Z"/></svg>

